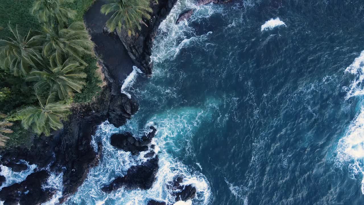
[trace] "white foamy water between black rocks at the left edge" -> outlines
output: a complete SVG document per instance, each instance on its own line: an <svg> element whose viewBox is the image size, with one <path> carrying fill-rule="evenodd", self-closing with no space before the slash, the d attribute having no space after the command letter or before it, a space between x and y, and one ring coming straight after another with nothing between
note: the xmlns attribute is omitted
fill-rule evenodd
<svg viewBox="0 0 364 205"><path fill-rule="evenodd" d="M3 175L6 179L6 181L0 186L0 190L4 187L13 185L14 183L20 183L24 181L25 178L27 178L29 174L33 173L33 170L37 167L36 165L29 165L29 162L24 160L21 160L21 163L27 165L28 169L21 172L15 172L7 166L0 165L0 175Z"/></svg>

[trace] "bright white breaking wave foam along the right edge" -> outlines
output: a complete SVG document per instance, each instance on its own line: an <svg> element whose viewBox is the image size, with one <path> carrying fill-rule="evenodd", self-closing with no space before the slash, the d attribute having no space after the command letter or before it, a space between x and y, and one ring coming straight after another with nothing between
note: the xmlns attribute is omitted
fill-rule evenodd
<svg viewBox="0 0 364 205"><path fill-rule="evenodd" d="M354 62L345 69L345 73L354 75L354 80L347 91L346 99L351 97L363 97L364 81L364 51L360 56L355 58ZM360 112L349 125L348 131L343 138L339 140L337 148L336 165L341 166L349 163L351 178L361 174L361 192L364 194L364 104L360 105Z"/></svg>

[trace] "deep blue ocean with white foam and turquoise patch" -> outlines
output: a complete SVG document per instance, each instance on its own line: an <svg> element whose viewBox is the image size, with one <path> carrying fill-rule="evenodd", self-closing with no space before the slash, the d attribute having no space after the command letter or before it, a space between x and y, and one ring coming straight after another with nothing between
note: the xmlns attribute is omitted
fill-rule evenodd
<svg viewBox="0 0 364 205"><path fill-rule="evenodd" d="M364 204L363 22L359 0L178 0L154 40L153 77L134 68L120 91L140 110L120 128L99 126L102 159L65 204L174 204L166 184L176 175L197 188L176 205ZM110 136L150 125L153 187L103 193L147 160ZM59 192L47 204L62 194L62 175L52 177L44 186Z"/></svg>

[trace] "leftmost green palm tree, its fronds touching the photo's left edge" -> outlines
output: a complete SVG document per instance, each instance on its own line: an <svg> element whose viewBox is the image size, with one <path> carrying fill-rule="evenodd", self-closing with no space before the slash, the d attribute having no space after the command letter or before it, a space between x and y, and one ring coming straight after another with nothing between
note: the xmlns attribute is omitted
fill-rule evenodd
<svg viewBox="0 0 364 205"><path fill-rule="evenodd" d="M9 30L14 38L0 39L0 65L9 69L15 76L24 76L28 73L29 65L35 66L41 63L42 36L31 36L29 30L27 36L21 36L16 26L15 31L9 24Z"/></svg>

